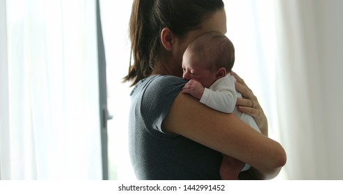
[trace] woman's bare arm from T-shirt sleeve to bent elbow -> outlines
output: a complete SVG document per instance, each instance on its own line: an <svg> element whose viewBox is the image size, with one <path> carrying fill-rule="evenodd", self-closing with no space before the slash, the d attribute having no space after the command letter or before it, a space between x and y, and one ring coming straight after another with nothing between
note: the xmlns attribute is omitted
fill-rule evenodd
<svg viewBox="0 0 343 194"><path fill-rule="evenodd" d="M163 121L163 131L180 134L229 155L272 179L286 162L285 150L233 114L217 112L189 94L178 94Z"/></svg>

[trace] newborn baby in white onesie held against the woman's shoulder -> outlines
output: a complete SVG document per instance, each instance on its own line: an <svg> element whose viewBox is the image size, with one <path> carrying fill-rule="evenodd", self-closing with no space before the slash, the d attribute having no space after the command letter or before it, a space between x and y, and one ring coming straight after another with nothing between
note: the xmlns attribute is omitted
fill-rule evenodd
<svg viewBox="0 0 343 194"><path fill-rule="evenodd" d="M230 74L233 64L234 46L230 39L218 32L205 33L184 52L182 77L189 82L182 88L182 93L191 94L212 109L233 113L260 132L254 118L236 108L236 99L242 96L234 88L235 79ZM234 166L241 166L241 170ZM239 173L249 168L248 164L224 155L221 179L238 179Z"/></svg>

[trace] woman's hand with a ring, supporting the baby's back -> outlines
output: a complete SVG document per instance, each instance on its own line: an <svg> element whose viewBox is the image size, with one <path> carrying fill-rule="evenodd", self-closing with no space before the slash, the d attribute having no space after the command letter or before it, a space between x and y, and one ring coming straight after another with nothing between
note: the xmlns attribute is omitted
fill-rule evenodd
<svg viewBox="0 0 343 194"><path fill-rule="evenodd" d="M263 109L257 100L257 97L253 94L253 91L251 91L251 89L246 85L244 80L237 75L237 73L231 71L231 74L237 80L237 82L235 83L237 91L239 91L244 97L237 98L237 108L239 109L239 111L253 116L262 134L268 136L268 122L266 119L266 115L264 114Z"/></svg>

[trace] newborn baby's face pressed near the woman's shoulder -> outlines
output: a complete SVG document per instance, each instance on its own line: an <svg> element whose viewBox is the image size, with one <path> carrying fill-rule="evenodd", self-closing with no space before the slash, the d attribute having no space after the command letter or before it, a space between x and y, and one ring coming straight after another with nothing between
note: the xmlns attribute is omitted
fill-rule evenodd
<svg viewBox="0 0 343 194"><path fill-rule="evenodd" d="M216 71L209 70L209 64L198 58L187 48L182 58L182 78L185 80L196 80L203 87L209 88L216 80Z"/></svg>

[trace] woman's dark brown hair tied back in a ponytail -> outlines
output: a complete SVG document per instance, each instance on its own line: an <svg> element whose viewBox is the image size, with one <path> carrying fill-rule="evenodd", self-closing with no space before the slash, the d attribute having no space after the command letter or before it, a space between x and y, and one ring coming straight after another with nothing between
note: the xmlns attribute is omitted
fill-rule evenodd
<svg viewBox="0 0 343 194"><path fill-rule="evenodd" d="M159 54L163 28L170 28L174 35L182 37L200 28L205 19L222 8L222 0L134 0L129 21L130 67L124 81L136 85L150 76Z"/></svg>

